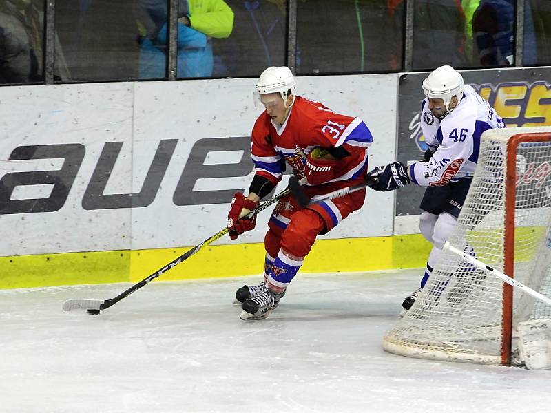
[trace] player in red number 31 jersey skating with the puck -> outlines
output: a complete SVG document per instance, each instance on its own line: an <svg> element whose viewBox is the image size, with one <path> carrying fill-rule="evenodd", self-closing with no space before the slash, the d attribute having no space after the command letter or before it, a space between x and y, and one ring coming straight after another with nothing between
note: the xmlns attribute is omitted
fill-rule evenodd
<svg viewBox="0 0 551 413"><path fill-rule="evenodd" d="M363 182L368 167L367 148L373 137L366 124L353 116L336 114L321 103L295 96L296 82L289 67L268 67L258 78L256 94L264 112L253 127L251 156L255 175L249 194L238 192L228 214L230 237L255 227L256 219L240 220L258 207L287 167L298 178L306 176L310 197ZM293 195L282 198L268 222L264 237L264 281L236 292L241 319L264 319L278 306L304 257L318 235L328 233L364 204L365 190L301 208Z"/></svg>

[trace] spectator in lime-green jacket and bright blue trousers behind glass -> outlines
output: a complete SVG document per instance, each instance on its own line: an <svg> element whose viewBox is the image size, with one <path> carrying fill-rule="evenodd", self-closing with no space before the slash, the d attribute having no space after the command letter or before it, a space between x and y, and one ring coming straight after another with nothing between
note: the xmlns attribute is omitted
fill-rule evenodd
<svg viewBox="0 0 551 413"><path fill-rule="evenodd" d="M140 78L164 78L167 52L167 0L139 0ZM213 72L210 38L227 38L233 11L223 0L180 0L178 78L209 77Z"/></svg>

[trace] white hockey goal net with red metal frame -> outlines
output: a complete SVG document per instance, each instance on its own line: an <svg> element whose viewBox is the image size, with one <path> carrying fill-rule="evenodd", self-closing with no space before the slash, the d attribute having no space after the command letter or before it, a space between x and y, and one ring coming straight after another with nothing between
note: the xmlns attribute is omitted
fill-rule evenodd
<svg viewBox="0 0 551 413"><path fill-rule="evenodd" d="M551 297L551 127L484 132L450 244ZM410 357L509 365L519 321L551 308L445 250L421 295L384 337Z"/></svg>

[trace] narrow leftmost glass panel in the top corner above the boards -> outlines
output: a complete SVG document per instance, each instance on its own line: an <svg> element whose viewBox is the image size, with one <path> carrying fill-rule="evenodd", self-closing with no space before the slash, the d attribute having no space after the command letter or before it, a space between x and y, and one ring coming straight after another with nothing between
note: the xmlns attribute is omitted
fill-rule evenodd
<svg viewBox="0 0 551 413"><path fill-rule="evenodd" d="M43 1L0 1L0 84L44 80L43 22Z"/></svg>

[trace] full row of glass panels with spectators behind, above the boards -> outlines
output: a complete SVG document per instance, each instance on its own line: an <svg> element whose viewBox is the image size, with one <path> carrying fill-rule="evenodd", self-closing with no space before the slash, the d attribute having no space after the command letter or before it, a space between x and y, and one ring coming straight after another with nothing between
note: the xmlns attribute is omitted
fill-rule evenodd
<svg viewBox="0 0 551 413"><path fill-rule="evenodd" d="M54 0L47 49L45 0L0 0L0 84L44 83L45 50L54 83L163 79L171 44L177 78L255 77L289 55L295 74L402 72L408 19L412 70L551 65L551 0L178 1L171 42L169 0Z"/></svg>

